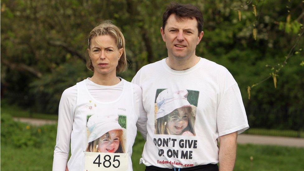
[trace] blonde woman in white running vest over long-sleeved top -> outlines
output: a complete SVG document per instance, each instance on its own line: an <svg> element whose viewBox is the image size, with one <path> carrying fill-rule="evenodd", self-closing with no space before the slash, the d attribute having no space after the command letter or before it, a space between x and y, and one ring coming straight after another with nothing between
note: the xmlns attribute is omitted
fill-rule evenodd
<svg viewBox="0 0 304 171"><path fill-rule="evenodd" d="M141 88L116 76L127 68L125 49L124 36L111 21L103 21L90 32L87 68L93 71L93 76L62 94L53 170L84 170L84 151L118 152L119 146L119 152L125 153L128 159L128 166L122 169L132 170L136 130L144 138L147 132L146 116L140 116L144 114ZM117 114L124 118L124 126L118 124Z"/></svg>

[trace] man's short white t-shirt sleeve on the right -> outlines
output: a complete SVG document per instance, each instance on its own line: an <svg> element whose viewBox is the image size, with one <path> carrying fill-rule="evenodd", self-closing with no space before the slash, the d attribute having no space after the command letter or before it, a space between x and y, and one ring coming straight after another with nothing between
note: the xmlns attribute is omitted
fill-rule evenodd
<svg viewBox="0 0 304 171"><path fill-rule="evenodd" d="M249 128L240 89L235 79L224 68L218 76L220 98L217 107L217 129L219 136Z"/></svg>

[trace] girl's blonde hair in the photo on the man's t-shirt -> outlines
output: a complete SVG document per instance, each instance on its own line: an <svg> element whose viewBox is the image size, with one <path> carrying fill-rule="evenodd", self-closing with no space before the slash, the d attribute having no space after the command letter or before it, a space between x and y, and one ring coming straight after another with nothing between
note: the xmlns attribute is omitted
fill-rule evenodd
<svg viewBox="0 0 304 171"><path fill-rule="evenodd" d="M191 107L187 107L188 110L188 126L184 129L185 131L190 131L195 136L194 124L195 124L195 116L196 116L196 106L191 105ZM178 112L175 109L173 112ZM163 116L161 118L156 119L155 121L155 134L170 134L167 123L169 122L169 115Z"/></svg>

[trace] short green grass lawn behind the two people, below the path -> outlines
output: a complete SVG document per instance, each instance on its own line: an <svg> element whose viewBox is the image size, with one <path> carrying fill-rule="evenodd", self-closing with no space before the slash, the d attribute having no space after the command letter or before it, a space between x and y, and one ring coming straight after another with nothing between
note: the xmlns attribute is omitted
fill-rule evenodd
<svg viewBox="0 0 304 171"><path fill-rule="evenodd" d="M53 143L40 148L22 147L1 143L1 169L3 170L51 170ZM144 141L137 135L133 146L133 170L144 170L139 164ZM250 160L250 157L253 160ZM270 145L238 145L235 170L304 170L304 148ZM14 164L12 164L14 163Z"/></svg>

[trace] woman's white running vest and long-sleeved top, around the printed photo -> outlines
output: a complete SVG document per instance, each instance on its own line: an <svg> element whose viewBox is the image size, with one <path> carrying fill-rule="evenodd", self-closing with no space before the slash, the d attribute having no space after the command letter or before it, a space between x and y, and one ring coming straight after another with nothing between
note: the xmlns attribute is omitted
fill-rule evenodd
<svg viewBox="0 0 304 171"><path fill-rule="evenodd" d="M121 79L121 78L120 78ZM129 170L132 170L132 145L136 136L136 126L146 137L146 116L142 106L141 88L121 79L116 85L98 85L89 78L67 88L60 99L56 146L53 170L65 170L71 143L69 170L84 167L84 153L88 146L88 118L93 115L125 116L123 131L124 152L129 155ZM135 126L136 124L136 126ZM92 130L91 130L92 131ZM131 167L131 168L130 168Z"/></svg>

